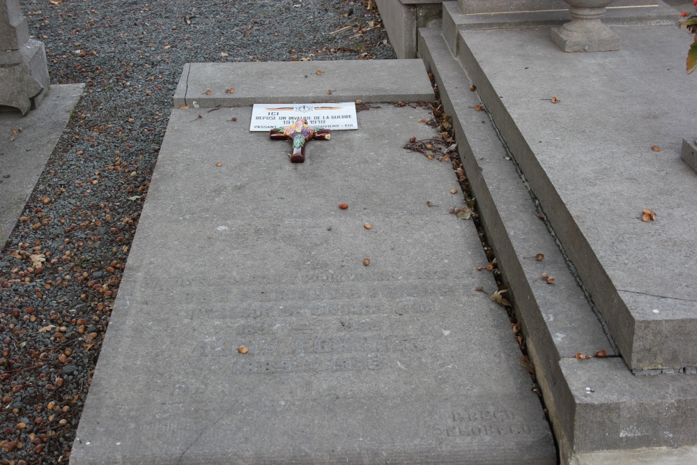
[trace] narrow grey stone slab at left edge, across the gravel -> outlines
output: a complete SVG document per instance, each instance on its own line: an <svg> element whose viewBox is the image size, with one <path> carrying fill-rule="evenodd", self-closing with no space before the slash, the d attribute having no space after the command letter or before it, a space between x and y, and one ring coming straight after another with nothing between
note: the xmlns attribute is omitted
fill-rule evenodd
<svg viewBox="0 0 697 465"><path fill-rule="evenodd" d="M84 84L56 84L41 105L26 116L0 113L0 247L15 229L82 89ZM10 141L10 137L15 140Z"/></svg>

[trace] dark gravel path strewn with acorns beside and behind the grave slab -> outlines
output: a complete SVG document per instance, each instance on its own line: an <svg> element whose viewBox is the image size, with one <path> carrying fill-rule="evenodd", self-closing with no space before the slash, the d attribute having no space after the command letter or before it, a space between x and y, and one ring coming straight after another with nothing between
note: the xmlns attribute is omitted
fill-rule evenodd
<svg viewBox="0 0 697 465"><path fill-rule="evenodd" d="M0 251L0 464L65 464L184 63L396 57L371 1L19 3L86 88Z"/></svg>

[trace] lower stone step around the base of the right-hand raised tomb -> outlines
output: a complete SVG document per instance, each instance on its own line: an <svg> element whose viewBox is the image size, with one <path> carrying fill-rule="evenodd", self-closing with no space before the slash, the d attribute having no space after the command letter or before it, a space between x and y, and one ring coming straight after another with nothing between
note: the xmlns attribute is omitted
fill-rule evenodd
<svg viewBox="0 0 697 465"><path fill-rule="evenodd" d="M482 223L503 275L510 283L516 312L523 321L523 333L553 422L561 463L694 462L697 458L694 374L636 376L625 360L615 355L617 352L606 349L608 344L612 346L612 341L608 340L594 307L583 297L574 273L563 265L565 257L557 244L560 235L551 234L536 216L544 212L549 222L554 214L540 199L546 191L535 190L537 197L531 197L529 190L537 188L539 179L531 178L530 171L522 169L518 158L514 158L519 147L516 140L501 139L505 131L498 123L491 124L492 117L497 121L489 105L491 100L487 100L492 94L503 96L500 105L505 102L507 109L518 108L514 103L523 99L542 113L543 109L533 99L552 96L563 89L552 88L543 96L533 93L529 97L528 89L518 89L516 93L492 92L487 90L487 82L493 77L481 72L477 79L472 74L468 76L461 62L452 56L439 29L420 29L419 33L420 56L436 77L444 111L452 114L459 152L477 198ZM569 56L559 53L562 57ZM523 56L530 60L534 55L523 53ZM477 59L491 63L501 61L501 55L477 54ZM508 58L502 62L511 65ZM514 69L521 76L523 68ZM468 67L465 69L470 71ZM508 79L510 84L521 80ZM477 92L470 91L473 82ZM566 94L559 95L562 102L558 105L561 105ZM475 111L475 105L482 104L480 97L485 98L488 112ZM549 101L546 104L552 105ZM526 115L530 121L530 113ZM578 125L569 127L583 128L583 125L579 120ZM560 140L569 137L568 128L556 128L556 131ZM533 171L532 176L537 175ZM607 203L600 205L605 208ZM636 221L636 225L645 226ZM544 253L540 262L525 258L537 253ZM542 272L556 277L556 282L549 285L540 282ZM599 349L606 349L608 357L576 358L576 353L593 356Z"/></svg>

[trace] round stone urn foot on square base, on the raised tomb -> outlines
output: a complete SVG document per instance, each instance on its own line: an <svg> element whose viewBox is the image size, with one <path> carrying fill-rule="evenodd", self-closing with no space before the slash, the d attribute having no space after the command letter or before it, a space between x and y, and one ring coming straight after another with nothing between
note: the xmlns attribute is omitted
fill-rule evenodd
<svg viewBox="0 0 697 465"><path fill-rule="evenodd" d="M620 38L601 21L612 0L564 0L572 20L553 27L550 38L564 52L607 52L620 49Z"/></svg>

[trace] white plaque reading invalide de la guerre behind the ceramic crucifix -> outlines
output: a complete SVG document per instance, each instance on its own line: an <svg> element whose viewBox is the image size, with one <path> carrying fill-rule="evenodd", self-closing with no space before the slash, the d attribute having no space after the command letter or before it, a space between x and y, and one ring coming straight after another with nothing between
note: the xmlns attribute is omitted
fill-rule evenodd
<svg viewBox="0 0 697 465"><path fill-rule="evenodd" d="M263 104L252 107L250 131L268 131L294 124L298 118L307 119L307 124L321 129L358 129L355 103L300 103Z"/></svg>

